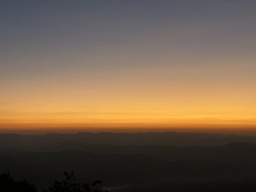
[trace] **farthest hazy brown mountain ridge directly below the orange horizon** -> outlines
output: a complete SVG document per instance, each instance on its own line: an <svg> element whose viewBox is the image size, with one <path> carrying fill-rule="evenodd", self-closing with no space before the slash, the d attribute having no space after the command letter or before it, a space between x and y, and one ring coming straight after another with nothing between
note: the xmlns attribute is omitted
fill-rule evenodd
<svg viewBox="0 0 256 192"><path fill-rule="evenodd" d="M78 133L0 134L0 150L83 150L89 145L165 145L177 147L220 146L232 142L256 144L256 137L195 133Z"/></svg>

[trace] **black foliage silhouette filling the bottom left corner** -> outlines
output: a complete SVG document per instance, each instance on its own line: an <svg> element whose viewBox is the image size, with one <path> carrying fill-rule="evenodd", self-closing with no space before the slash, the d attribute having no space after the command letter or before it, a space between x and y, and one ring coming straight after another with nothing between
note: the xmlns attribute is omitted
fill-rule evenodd
<svg viewBox="0 0 256 192"><path fill-rule="evenodd" d="M26 180L15 181L10 174L4 173L0 175L0 191L1 192L36 192L35 185L29 184Z"/></svg>

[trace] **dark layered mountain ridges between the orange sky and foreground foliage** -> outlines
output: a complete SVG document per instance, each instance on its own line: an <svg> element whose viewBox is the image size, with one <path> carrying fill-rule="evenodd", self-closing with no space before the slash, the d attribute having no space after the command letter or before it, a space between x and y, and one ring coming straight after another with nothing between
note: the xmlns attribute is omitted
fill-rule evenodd
<svg viewBox="0 0 256 192"><path fill-rule="evenodd" d="M75 170L79 180L103 180L112 191L256 181L255 137L174 132L1 134L0 147L0 172L26 178L39 188L61 179L65 170Z"/></svg>

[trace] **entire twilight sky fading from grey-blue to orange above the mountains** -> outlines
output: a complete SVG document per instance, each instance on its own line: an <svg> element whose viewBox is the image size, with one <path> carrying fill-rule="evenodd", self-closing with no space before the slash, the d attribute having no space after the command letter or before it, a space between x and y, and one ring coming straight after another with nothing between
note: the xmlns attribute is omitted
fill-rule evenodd
<svg viewBox="0 0 256 192"><path fill-rule="evenodd" d="M0 2L0 128L256 128L256 1Z"/></svg>

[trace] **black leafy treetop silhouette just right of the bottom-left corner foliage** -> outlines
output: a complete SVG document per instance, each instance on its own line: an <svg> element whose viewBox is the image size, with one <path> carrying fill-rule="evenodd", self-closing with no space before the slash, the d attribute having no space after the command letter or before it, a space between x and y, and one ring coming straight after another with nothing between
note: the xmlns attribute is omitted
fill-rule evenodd
<svg viewBox="0 0 256 192"><path fill-rule="evenodd" d="M74 175L74 171L70 174L64 172L64 180L56 180L49 191L44 192L108 192L104 191L101 180L95 180L94 183L79 183Z"/></svg>

